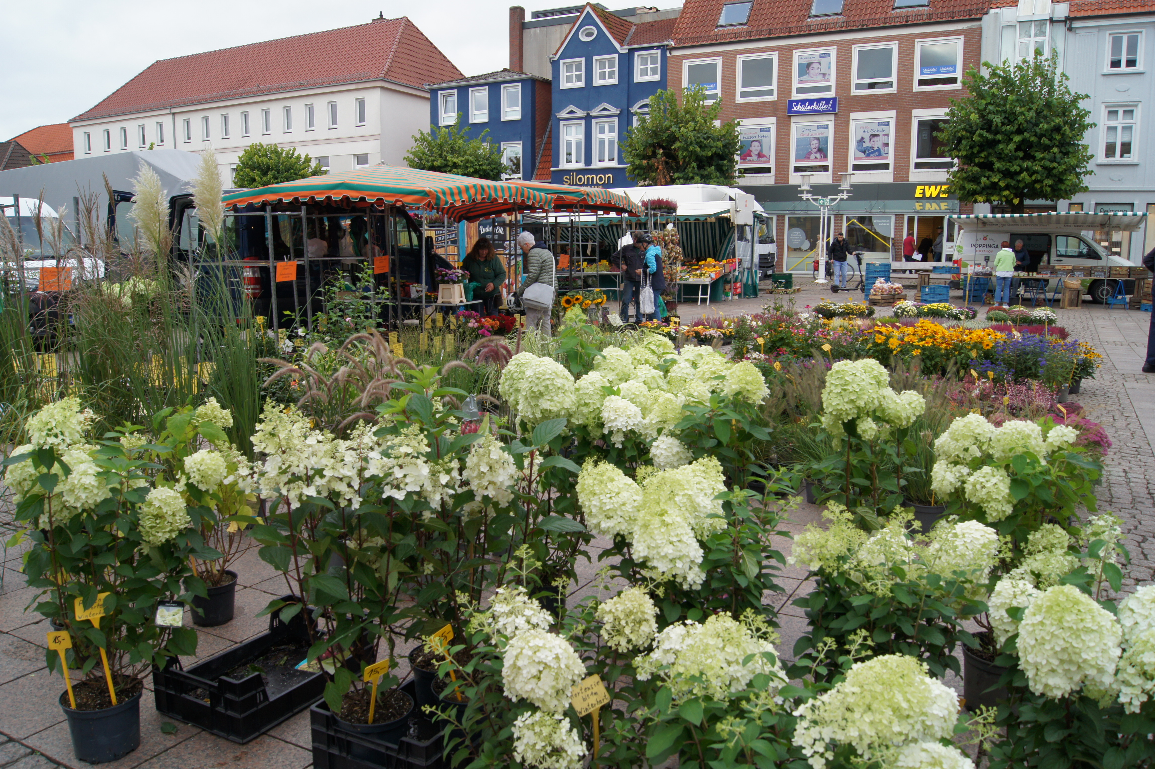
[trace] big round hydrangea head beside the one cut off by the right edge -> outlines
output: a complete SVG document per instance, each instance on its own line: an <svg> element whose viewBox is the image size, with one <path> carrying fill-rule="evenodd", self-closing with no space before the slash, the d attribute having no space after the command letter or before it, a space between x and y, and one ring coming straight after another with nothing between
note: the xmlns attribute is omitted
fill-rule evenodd
<svg viewBox="0 0 1155 769"><path fill-rule="evenodd" d="M1085 685L1105 692L1115 679L1123 633L1115 617L1079 588L1048 588L1019 625L1019 666L1030 690L1058 699Z"/></svg>

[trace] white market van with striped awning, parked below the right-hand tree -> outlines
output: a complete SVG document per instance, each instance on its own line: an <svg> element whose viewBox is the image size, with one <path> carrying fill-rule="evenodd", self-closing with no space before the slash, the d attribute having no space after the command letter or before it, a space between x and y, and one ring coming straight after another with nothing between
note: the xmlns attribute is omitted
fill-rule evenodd
<svg viewBox="0 0 1155 769"><path fill-rule="evenodd" d="M1072 211L1061 214L956 214L951 217L955 233L955 259L978 267L990 266L1000 244L1006 240L1012 248L1016 240L1030 254L1031 269L1041 266L1072 267L1073 277L1090 278L1087 293L1091 301L1102 304L1116 289L1118 278L1108 277L1111 267L1135 267L1131 261L1108 253L1095 242L1095 231L1113 230L1134 232L1143 226L1146 214L1091 214ZM1081 276L1078 274L1082 272ZM1049 278L1050 284L1057 277ZM1134 281L1124 281L1130 294Z"/></svg>

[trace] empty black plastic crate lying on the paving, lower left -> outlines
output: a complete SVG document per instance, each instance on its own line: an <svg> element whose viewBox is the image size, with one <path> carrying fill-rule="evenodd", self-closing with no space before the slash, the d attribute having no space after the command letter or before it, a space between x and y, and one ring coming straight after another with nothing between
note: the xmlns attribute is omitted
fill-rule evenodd
<svg viewBox="0 0 1155 769"><path fill-rule="evenodd" d="M299 600L285 596L282 600ZM308 628L303 613L289 622L280 612L269 617L269 632L249 639L215 657L184 670L171 657L162 669L152 669L157 711L244 745L321 699L325 677L310 673L271 697L260 673L233 679L226 671L259 659L269 649L285 643L308 645ZM304 659L304 656L301 657ZM204 695L208 700L204 700Z"/></svg>

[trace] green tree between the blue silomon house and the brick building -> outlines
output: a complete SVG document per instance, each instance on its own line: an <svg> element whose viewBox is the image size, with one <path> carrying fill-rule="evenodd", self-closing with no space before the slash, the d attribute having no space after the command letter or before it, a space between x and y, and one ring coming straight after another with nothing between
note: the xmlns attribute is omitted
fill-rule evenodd
<svg viewBox="0 0 1155 769"><path fill-rule="evenodd" d="M732 120L715 126L722 99L706 104L700 85L687 88L681 104L673 91L650 97L650 113L621 142L626 174L640 185L723 185L737 178L740 142Z"/></svg>

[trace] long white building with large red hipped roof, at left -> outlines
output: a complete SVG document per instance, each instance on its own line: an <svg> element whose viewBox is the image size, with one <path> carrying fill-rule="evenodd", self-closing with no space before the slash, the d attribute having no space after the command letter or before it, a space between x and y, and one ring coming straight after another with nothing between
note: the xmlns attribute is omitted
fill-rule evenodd
<svg viewBox="0 0 1155 769"><path fill-rule="evenodd" d="M211 147L232 169L261 142L331 171L403 165L411 136L429 129L425 83L461 76L409 18L381 17L156 61L69 126L77 158Z"/></svg>

